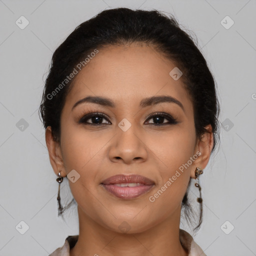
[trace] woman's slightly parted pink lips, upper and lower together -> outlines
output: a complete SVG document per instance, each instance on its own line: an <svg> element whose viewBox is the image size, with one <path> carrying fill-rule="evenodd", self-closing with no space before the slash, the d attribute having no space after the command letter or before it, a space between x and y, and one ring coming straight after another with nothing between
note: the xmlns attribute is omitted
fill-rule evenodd
<svg viewBox="0 0 256 256"><path fill-rule="evenodd" d="M132 184L128 184L131 186L120 186L121 184L127 185L127 183ZM146 193L154 186L154 182L151 179L135 174L114 175L103 180L101 184L108 192L122 199L132 199L134 197L137 197L141 194Z"/></svg>

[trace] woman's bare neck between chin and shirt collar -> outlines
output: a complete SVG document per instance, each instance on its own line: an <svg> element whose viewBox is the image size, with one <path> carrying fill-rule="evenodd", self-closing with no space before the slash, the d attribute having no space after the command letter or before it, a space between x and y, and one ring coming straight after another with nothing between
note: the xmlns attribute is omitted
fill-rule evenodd
<svg viewBox="0 0 256 256"><path fill-rule="evenodd" d="M162 222L138 233L120 233L105 228L78 206L79 236L70 256L132 255L187 256L179 240L180 207Z"/></svg>

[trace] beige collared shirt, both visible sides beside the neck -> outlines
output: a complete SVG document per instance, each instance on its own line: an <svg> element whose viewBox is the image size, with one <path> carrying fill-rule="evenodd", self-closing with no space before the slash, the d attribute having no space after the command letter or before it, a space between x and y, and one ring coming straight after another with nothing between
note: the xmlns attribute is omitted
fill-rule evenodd
<svg viewBox="0 0 256 256"><path fill-rule="evenodd" d="M55 249L49 256L69 256L69 249L74 247L78 240L77 235L69 235L65 239L65 243L62 247ZM193 240L193 237L183 229L179 228L179 240L182 246L187 249L188 256L206 256L202 249Z"/></svg>

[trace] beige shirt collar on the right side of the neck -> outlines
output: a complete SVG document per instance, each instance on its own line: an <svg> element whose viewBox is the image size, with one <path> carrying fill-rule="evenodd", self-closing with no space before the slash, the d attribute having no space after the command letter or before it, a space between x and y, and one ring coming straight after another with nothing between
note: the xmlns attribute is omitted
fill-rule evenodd
<svg viewBox="0 0 256 256"><path fill-rule="evenodd" d="M188 251L188 256L206 256L201 247L194 241L192 235L183 229L179 229L179 240Z"/></svg>

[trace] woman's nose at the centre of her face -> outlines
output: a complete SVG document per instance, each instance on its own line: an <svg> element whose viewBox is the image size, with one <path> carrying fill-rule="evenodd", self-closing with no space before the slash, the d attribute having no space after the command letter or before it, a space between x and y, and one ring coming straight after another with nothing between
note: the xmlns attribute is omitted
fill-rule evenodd
<svg viewBox="0 0 256 256"><path fill-rule="evenodd" d="M143 162L147 157L145 138L135 125L126 131L117 126L116 134L111 140L109 158L113 162L131 164L133 161Z"/></svg>

